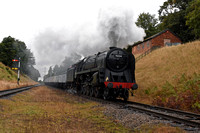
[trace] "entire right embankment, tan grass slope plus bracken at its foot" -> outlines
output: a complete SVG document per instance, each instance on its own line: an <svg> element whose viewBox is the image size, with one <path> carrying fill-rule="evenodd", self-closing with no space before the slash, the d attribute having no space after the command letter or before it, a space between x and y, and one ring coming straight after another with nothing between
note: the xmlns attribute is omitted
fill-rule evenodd
<svg viewBox="0 0 200 133"><path fill-rule="evenodd" d="M200 41L153 51L136 63L133 100L200 112Z"/></svg>

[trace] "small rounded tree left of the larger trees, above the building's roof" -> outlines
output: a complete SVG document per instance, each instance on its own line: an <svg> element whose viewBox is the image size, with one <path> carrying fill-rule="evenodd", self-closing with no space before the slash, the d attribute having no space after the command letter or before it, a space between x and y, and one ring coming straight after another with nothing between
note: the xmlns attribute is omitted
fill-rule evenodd
<svg viewBox="0 0 200 133"><path fill-rule="evenodd" d="M158 32L158 19L155 18L155 15L151 15L149 13L141 13L135 24L145 30L145 38L148 38Z"/></svg>

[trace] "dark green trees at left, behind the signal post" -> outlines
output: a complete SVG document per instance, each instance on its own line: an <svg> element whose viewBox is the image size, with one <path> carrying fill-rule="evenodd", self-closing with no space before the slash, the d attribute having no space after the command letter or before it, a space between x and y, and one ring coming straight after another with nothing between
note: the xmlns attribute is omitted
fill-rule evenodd
<svg viewBox="0 0 200 133"><path fill-rule="evenodd" d="M33 65L35 65L35 58L30 49L27 49L24 42L12 38L11 36L4 38L0 43L0 62L6 66L12 67L12 59L19 59L19 57L20 71L37 80L40 74L39 71L33 67Z"/></svg>

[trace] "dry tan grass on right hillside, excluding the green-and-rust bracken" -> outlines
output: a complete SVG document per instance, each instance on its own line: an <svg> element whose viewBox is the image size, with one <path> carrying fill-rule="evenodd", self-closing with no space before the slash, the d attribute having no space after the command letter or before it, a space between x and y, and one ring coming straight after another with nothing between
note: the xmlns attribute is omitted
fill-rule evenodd
<svg viewBox="0 0 200 133"><path fill-rule="evenodd" d="M136 80L139 89L133 100L151 104L155 97L146 91L161 90L166 81L176 86L183 75L200 74L200 41L153 51L136 63Z"/></svg>

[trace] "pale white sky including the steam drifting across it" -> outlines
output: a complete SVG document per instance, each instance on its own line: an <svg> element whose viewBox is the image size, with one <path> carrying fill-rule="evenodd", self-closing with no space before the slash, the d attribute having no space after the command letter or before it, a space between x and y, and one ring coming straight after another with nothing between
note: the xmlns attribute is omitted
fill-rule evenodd
<svg viewBox="0 0 200 133"><path fill-rule="evenodd" d="M87 56L142 40L144 30L134 22L143 12L158 16L164 1L0 0L0 41L12 36L25 42L43 75L74 53Z"/></svg>

